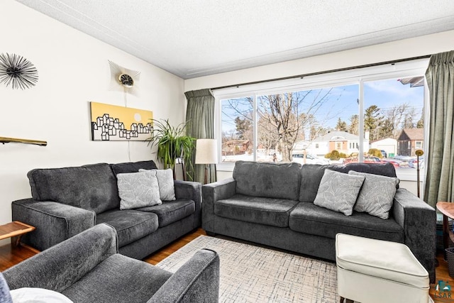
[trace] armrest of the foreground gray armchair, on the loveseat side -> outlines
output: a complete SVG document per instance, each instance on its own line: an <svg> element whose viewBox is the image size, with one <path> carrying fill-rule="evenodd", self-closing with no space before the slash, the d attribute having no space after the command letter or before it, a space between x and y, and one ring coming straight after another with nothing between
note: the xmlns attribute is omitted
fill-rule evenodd
<svg viewBox="0 0 454 303"><path fill-rule="evenodd" d="M3 272L11 290L40 287L62 292L118 251L115 228L98 224Z"/></svg>

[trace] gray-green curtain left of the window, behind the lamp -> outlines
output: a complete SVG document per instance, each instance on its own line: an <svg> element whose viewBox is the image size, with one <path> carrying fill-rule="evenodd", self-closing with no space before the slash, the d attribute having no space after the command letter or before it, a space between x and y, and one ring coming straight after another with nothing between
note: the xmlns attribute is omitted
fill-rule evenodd
<svg viewBox="0 0 454 303"><path fill-rule="evenodd" d="M187 99L187 135L196 139L213 139L215 99L211 90L199 89L185 92L184 95ZM186 163L187 174L192 180L203 183L205 165L194 165L195 156L192 155L192 163ZM209 165L208 182L216 182L216 165Z"/></svg>

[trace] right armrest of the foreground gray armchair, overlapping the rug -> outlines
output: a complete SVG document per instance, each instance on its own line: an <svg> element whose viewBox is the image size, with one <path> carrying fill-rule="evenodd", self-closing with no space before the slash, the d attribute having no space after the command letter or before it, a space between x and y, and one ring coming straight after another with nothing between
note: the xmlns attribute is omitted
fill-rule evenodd
<svg viewBox="0 0 454 303"><path fill-rule="evenodd" d="M147 303L218 302L219 256L202 249L184 263Z"/></svg>

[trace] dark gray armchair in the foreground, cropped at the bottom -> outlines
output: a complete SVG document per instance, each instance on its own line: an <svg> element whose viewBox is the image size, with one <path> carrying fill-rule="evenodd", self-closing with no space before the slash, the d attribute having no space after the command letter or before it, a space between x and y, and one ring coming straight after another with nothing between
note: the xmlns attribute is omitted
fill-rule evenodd
<svg viewBox="0 0 454 303"><path fill-rule="evenodd" d="M73 302L218 302L219 257L199 250L177 272L118 253L116 231L99 224L3 272L11 290L39 287Z"/></svg>

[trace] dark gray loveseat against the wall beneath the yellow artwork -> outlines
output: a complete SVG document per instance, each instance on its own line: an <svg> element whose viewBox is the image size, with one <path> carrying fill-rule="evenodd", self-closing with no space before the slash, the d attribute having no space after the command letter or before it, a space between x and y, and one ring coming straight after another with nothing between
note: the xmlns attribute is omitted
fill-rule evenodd
<svg viewBox="0 0 454 303"><path fill-rule="evenodd" d="M120 209L116 174L157 168L153 161L99 163L28 172L31 199L11 204L13 221L35 226L22 241L45 250L96 224L116 228L119 252L142 259L201 225L201 184L175 181L174 201Z"/></svg>

